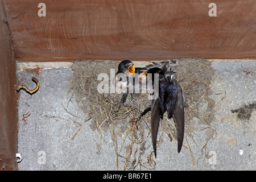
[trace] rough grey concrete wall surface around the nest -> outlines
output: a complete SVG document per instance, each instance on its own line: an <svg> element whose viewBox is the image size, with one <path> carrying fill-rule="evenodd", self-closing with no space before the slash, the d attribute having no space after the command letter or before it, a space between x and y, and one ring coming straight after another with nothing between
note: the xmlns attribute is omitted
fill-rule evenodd
<svg viewBox="0 0 256 182"><path fill-rule="evenodd" d="M151 155L151 133L147 128L144 148L135 143L131 153L127 146L133 135L123 132L114 138L109 130L93 131L90 113L81 111L80 103L72 97L74 92L68 92L68 80L73 76L71 63L57 65L18 63L20 83L35 88L32 76L40 82L38 92L18 93L18 152L22 155L19 170L256 169L256 60L212 60L212 94L202 96L201 100L209 100L208 104L202 103L199 117L186 123L181 152L177 153L176 140L171 141L163 132L156 159ZM214 115L205 124L200 117L209 109L210 101L214 101ZM123 156L128 153L131 157L126 160Z"/></svg>

